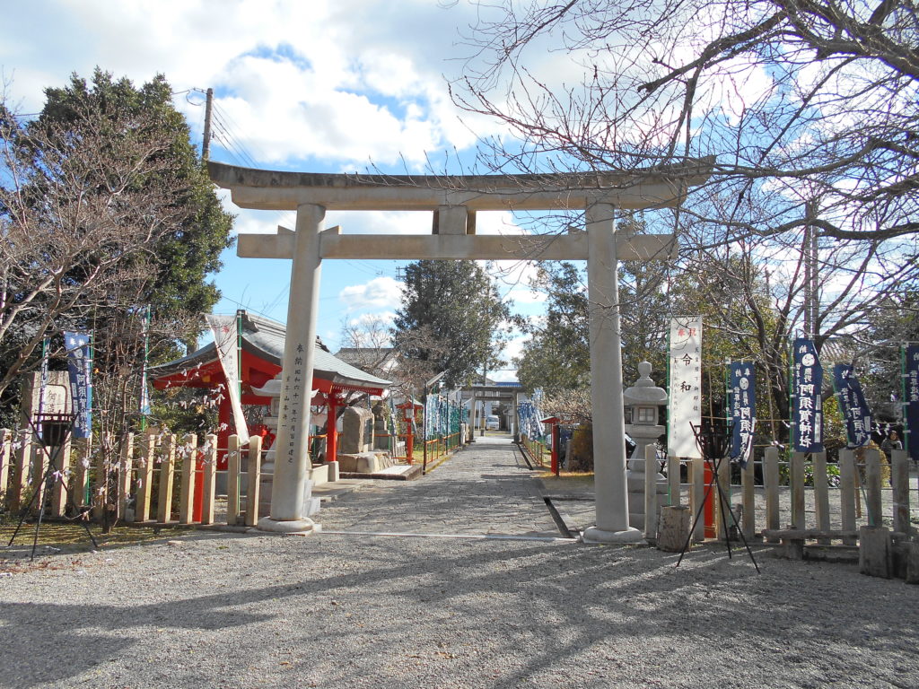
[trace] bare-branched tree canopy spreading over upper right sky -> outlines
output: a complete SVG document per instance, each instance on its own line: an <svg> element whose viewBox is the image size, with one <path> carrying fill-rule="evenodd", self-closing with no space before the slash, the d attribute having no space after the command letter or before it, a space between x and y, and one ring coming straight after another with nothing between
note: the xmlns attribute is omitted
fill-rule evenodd
<svg viewBox="0 0 919 689"><path fill-rule="evenodd" d="M914 3L508 1L482 10L469 69L452 85L461 107L510 131L483 141L482 164L640 178L713 161L679 208L647 211L681 246L666 306L706 316L712 365L755 359L773 418L787 418L796 334L872 379L893 370L913 339L919 288ZM563 77L552 69L560 55Z"/></svg>

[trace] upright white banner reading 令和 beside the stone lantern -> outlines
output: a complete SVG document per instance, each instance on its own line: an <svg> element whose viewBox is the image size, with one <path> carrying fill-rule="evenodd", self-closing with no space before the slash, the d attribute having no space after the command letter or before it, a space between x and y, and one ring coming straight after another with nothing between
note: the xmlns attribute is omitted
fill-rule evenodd
<svg viewBox="0 0 919 689"><path fill-rule="evenodd" d="M702 317L670 320L667 454L701 457L690 424L702 423Z"/></svg>

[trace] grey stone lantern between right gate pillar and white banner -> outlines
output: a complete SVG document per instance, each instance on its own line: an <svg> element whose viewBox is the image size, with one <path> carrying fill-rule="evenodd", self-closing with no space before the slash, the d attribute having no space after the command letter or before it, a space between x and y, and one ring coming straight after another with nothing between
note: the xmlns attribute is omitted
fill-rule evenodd
<svg viewBox="0 0 919 689"><path fill-rule="evenodd" d="M651 379L651 364L642 361L638 365L639 379L622 396L631 410L631 424L626 424L628 433L635 442L626 471L629 486L629 525L644 528L644 479L645 447L653 445L666 430L660 424L661 408L667 404L667 393L654 385ZM667 483L660 473L655 477L656 493L666 495ZM661 498L658 497L658 504Z"/></svg>

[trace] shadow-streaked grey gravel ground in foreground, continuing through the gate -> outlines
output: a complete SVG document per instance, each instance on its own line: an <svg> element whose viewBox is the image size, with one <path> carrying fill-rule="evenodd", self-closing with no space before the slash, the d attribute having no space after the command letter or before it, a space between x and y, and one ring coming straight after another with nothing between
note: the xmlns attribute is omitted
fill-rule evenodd
<svg viewBox="0 0 919 689"><path fill-rule="evenodd" d="M478 446L339 499L319 536L13 563L0 686L919 686L919 587L852 566L328 533L557 534L529 481L511 447Z"/></svg>

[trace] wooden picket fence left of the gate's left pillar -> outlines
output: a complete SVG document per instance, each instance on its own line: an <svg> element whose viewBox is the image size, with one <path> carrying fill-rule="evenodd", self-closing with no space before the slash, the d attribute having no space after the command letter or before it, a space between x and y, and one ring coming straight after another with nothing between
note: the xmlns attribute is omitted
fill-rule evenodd
<svg viewBox="0 0 919 689"><path fill-rule="evenodd" d="M108 511L138 524L255 525L267 514L258 510L261 446L258 436L243 445L231 435L227 469L218 470L216 435L129 434L45 450L29 432L0 429L0 511L38 514L43 503L50 518L100 520ZM219 475L225 505L217 502Z"/></svg>

